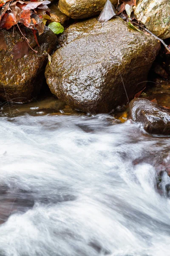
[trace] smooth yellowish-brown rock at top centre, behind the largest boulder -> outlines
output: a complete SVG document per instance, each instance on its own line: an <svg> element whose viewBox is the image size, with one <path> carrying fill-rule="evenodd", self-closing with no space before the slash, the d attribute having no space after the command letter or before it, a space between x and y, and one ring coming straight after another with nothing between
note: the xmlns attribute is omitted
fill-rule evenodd
<svg viewBox="0 0 170 256"><path fill-rule="evenodd" d="M58 7L72 19L83 19L98 15L105 3L106 0L59 0ZM111 0L111 3L117 5L118 0Z"/></svg>

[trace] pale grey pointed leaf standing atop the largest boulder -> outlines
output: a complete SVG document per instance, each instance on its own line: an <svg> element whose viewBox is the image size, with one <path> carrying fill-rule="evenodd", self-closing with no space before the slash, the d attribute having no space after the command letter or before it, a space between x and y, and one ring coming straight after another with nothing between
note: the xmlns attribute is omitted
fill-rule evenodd
<svg viewBox="0 0 170 256"><path fill-rule="evenodd" d="M102 9L102 12L100 13L99 17L98 17L98 21L102 24L110 20L113 16L116 15L116 10L113 6L113 4L111 3L110 0L107 0L107 2L105 3L104 8Z"/></svg>

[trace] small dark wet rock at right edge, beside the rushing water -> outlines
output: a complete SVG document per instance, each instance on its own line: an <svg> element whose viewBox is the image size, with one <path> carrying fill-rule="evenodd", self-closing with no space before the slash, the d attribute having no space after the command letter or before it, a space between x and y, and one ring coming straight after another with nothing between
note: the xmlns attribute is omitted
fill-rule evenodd
<svg viewBox="0 0 170 256"><path fill-rule="evenodd" d="M142 122L152 134L170 134L170 112L148 99L137 98L130 102L130 118Z"/></svg>

